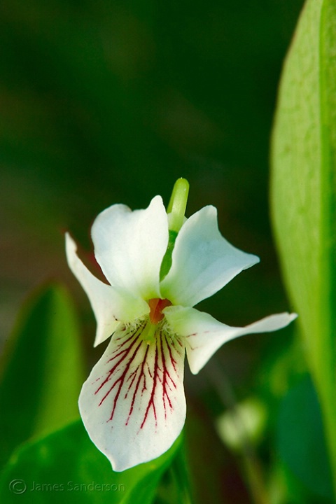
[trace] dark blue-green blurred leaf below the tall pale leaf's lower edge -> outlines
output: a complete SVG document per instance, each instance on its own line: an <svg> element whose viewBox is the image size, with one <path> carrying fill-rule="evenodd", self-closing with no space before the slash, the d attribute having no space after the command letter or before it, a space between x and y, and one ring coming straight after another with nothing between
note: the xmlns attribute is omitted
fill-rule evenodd
<svg viewBox="0 0 336 504"><path fill-rule="evenodd" d="M279 454L293 474L315 495L332 500L332 477L316 392L306 378L292 388L280 407Z"/></svg>

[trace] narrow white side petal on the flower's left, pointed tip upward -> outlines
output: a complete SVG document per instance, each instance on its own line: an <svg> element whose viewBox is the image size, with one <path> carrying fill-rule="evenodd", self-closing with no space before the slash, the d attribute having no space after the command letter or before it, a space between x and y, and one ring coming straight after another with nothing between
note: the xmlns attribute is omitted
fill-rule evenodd
<svg viewBox="0 0 336 504"><path fill-rule="evenodd" d="M148 314L148 304L140 297L117 290L97 279L78 258L76 243L66 233L66 258L73 274L87 293L94 316L97 333L94 346L111 336L121 322L133 321Z"/></svg>

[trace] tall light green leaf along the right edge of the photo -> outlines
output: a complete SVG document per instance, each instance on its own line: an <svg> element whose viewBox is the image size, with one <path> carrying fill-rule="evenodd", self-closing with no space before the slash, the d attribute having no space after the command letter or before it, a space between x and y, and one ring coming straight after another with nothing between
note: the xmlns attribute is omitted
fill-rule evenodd
<svg viewBox="0 0 336 504"><path fill-rule="evenodd" d="M336 3L308 0L283 69L272 212L323 411L336 488Z"/></svg>

